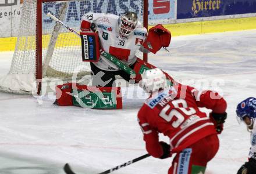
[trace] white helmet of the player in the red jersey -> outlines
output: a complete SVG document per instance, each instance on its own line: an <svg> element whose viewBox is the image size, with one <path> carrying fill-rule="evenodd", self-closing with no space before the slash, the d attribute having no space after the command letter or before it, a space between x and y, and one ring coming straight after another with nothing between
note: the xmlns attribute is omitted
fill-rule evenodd
<svg viewBox="0 0 256 174"><path fill-rule="evenodd" d="M166 76L159 68L145 71L141 78L139 85L147 93L158 92L168 87Z"/></svg>

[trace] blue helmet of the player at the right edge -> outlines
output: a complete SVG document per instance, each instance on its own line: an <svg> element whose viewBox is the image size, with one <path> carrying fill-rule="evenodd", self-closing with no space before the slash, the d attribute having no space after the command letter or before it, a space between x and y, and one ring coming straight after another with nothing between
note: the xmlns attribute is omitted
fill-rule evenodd
<svg viewBox="0 0 256 174"><path fill-rule="evenodd" d="M237 105L236 108L237 121L241 123L244 117L249 117L250 119L256 118L256 99L254 97L249 97L243 100Z"/></svg>

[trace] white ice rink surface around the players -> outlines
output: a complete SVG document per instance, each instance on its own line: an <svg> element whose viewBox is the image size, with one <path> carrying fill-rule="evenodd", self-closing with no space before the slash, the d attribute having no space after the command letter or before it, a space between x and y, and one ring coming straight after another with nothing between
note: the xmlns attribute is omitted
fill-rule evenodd
<svg viewBox="0 0 256 174"><path fill-rule="evenodd" d="M151 54L149 62L182 84L217 90L227 100L221 146L206 173L236 173L250 148L235 110L241 100L256 97L256 30L173 37L168 50ZM0 52L0 76L11 60L12 52ZM0 173L58 174L69 162L78 174L96 174L146 154L136 119L145 96L137 86L122 93L122 110L90 110L0 92ZM113 174L167 173L171 162L148 157Z"/></svg>

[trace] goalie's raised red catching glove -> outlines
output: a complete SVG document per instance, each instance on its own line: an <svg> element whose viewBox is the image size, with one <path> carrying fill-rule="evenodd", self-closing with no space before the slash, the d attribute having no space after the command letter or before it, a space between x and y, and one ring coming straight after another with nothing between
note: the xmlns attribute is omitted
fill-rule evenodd
<svg viewBox="0 0 256 174"><path fill-rule="evenodd" d="M161 24L157 24L148 30L148 36L143 46L155 54L162 47L169 46L171 37L169 30Z"/></svg>

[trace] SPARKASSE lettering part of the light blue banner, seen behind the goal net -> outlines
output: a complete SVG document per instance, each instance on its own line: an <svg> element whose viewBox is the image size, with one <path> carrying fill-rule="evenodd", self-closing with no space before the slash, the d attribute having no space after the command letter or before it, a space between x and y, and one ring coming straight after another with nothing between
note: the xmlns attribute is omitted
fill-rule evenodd
<svg viewBox="0 0 256 174"><path fill-rule="evenodd" d="M62 2L56 3L44 3L42 6L42 19L43 28L49 28L54 26L55 22L47 17L46 14L51 12L58 17L59 10L62 6ZM80 26L81 17L88 12L94 13L112 13L122 14L130 10L131 12L137 12L140 17L141 0L84 0L84 1L71 1L67 6L67 15L63 20L65 24L70 27ZM140 17L141 18L141 17ZM142 20L142 19L141 19Z"/></svg>

